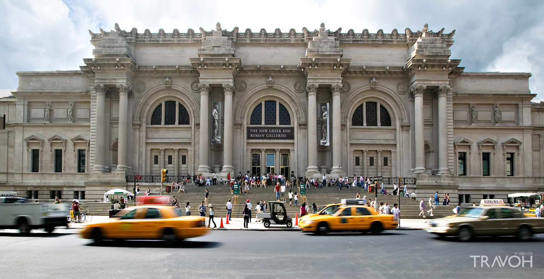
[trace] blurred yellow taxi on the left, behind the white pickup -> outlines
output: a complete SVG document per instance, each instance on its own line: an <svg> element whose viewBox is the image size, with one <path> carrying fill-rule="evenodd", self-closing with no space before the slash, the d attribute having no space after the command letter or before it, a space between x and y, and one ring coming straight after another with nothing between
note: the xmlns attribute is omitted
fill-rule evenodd
<svg viewBox="0 0 544 279"><path fill-rule="evenodd" d="M123 209L114 218L89 223L81 231L81 236L95 242L103 239L163 239L172 242L206 232L205 220L200 216L184 216L174 206L143 205Z"/></svg>

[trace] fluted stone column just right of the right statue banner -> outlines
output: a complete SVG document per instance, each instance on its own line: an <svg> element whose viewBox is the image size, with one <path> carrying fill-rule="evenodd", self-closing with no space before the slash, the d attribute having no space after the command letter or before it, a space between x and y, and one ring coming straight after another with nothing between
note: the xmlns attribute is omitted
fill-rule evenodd
<svg viewBox="0 0 544 279"><path fill-rule="evenodd" d="M331 85L332 93L332 134L335 135L329 139L332 139L332 168L331 173L343 174L344 170L340 166L341 156L340 147L342 145L342 133L340 132L340 92L342 90L342 84Z"/></svg>

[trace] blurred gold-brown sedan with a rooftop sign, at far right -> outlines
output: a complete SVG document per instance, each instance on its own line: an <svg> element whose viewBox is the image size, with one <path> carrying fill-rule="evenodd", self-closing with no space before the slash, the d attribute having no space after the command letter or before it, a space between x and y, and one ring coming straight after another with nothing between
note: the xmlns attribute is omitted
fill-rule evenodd
<svg viewBox="0 0 544 279"><path fill-rule="evenodd" d="M517 236L522 240L544 233L544 218L524 215L509 206L471 206L457 215L434 219L425 231L439 237L457 236L467 241L473 236Z"/></svg>

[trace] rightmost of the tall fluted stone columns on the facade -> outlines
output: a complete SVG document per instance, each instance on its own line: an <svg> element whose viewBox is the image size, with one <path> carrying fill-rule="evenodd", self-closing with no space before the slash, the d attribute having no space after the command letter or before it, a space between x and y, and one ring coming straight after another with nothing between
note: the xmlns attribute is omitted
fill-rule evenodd
<svg viewBox="0 0 544 279"><path fill-rule="evenodd" d="M438 171L437 174L449 174L448 168L448 121L446 118L446 101L449 86L440 86L438 95Z"/></svg>

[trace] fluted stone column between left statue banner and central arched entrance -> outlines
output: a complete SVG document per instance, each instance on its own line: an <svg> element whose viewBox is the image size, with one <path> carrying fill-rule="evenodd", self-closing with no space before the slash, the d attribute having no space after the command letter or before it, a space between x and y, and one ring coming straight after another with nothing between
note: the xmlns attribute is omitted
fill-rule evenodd
<svg viewBox="0 0 544 279"><path fill-rule="evenodd" d="M224 83L223 91L225 92L225 129L223 139L223 169L222 173L234 173L234 166L232 164L232 148L234 146L234 119L233 119L233 105L232 98L234 93L234 86L232 83Z"/></svg>

